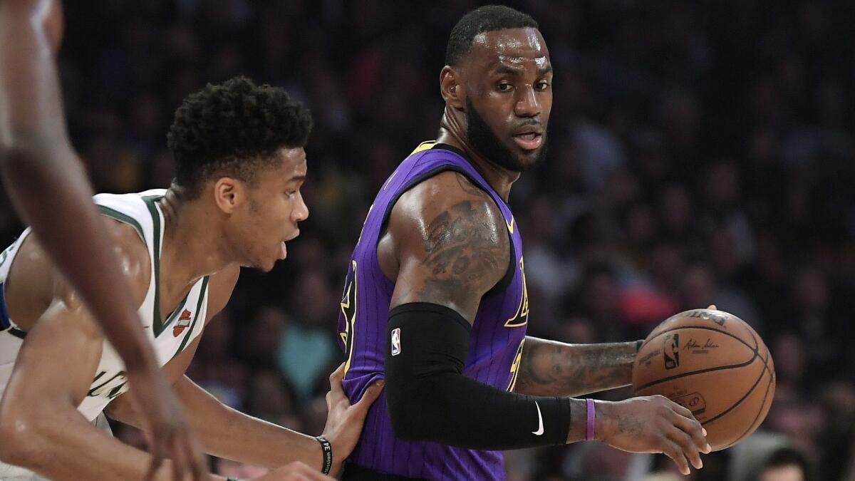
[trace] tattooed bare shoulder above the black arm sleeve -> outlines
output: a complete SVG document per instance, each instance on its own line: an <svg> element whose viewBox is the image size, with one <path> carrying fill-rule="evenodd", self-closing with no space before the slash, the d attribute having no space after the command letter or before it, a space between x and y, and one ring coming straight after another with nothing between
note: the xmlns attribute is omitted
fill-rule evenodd
<svg viewBox="0 0 855 481"><path fill-rule="evenodd" d="M471 322L510 262L504 217L465 175L443 172L398 199L389 217L400 270L392 306L432 302Z"/></svg>

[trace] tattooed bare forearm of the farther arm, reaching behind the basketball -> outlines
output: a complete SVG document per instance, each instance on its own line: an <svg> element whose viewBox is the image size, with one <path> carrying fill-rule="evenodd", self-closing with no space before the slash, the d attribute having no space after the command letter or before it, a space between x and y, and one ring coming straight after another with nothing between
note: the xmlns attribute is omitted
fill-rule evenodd
<svg viewBox="0 0 855 481"><path fill-rule="evenodd" d="M579 396L632 383L637 342L565 344L527 336L515 392Z"/></svg>

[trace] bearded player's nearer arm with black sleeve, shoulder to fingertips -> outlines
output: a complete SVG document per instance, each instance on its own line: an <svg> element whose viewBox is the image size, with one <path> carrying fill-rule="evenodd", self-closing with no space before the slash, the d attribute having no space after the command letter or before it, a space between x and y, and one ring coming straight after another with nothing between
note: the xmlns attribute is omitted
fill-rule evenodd
<svg viewBox="0 0 855 481"><path fill-rule="evenodd" d="M504 229L498 207L456 173L422 182L392 209L388 232L398 275L386 336L386 396L395 434L479 449L588 438L669 454L684 472L689 460L701 466L698 453L706 446L699 424L663 397L598 403L589 417L584 400L521 395L463 376L481 297L509 262Z"/></svg>

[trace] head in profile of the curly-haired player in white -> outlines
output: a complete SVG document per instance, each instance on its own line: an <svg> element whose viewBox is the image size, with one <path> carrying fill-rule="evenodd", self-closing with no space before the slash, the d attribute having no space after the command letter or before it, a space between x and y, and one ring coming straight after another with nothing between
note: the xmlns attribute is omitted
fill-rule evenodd
<svg viewBox="0 0 855 481"><path fill-rule="evenodd" d="M175 111L173 189L183 203L213 207L234 262L270 270L299 234L311 124L287 92L245 77L209 84Z"/></svg>

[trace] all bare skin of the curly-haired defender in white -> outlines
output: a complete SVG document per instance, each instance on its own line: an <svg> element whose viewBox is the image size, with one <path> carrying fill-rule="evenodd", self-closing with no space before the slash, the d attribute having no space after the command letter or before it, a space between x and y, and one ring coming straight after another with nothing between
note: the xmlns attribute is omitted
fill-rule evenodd
<svg viewBox="0 0 855 481"><path fill-rule="evenodd" d="M209 322L226 305L241 265L263 270L283 256L282 243L298 235L309 215L299 192L306 175L303 148L283 148L280 164L262 169L252 183L229 177L208 181L198 199L180 201L167 191L158 200L164 218L160 252L160 316L166 318L192 286L209 276ZM179 187L176 187L179 189ZM180 190L180 189L179 189ZM152 276L150 254L133 227L98 217L110 233L125 281L139 305ZM149 454L95 428L77 410L90 389L101 358L103 336L74 288L54 269L35 236L23 241L12 261L6 286L9 315L27 337L0 401L0 459L56 480L142 479L150 472ZM231 460L275 468L264 481L304 476L326 479L321 444L312 436L289 431L233 410L184 376L199 337L163 367L203 448ZM343 368L330 377L327 426L333 444L333 472L356 445L380 384L351 406L341 387ZM127 395L108 405L114 419L142 426L144 419ZM301 462L298 462L301 461ZM312 466L311 469L306 466ZM306 475L305 472L312 474ZM150 472L172 479L174 464ZM177 478L184 479L178 476ZM204 473L204 479L221 479Z"/></svg>

